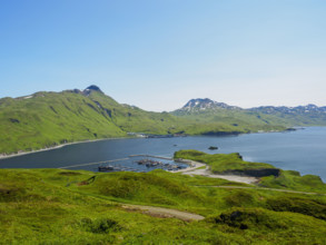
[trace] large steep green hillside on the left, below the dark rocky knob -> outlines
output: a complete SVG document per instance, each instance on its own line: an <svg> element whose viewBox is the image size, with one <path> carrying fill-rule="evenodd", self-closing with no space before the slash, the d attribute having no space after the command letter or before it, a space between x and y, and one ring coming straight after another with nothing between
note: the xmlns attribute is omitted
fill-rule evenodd
<svg viewBox="0 0 326 245"><path fill-rule="evenodd" d="M126 136L92 100L70 91L1 99L0 121L1 153Z"/></svg>

